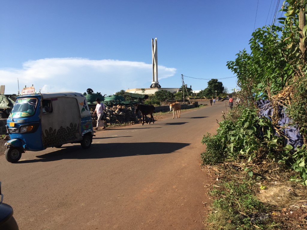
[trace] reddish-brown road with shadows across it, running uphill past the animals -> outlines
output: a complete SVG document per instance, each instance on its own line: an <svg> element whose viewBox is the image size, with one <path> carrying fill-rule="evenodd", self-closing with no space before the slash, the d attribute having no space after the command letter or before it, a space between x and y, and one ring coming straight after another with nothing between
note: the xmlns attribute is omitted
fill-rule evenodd
<svg viewBox="0 0 307 230"><path fill-rule="evenodd" d="M210 202L200 140L215 132L224 102L154 124L96 132L80 144L0 156L5 203L24 229L203 229Z"/></svg>

